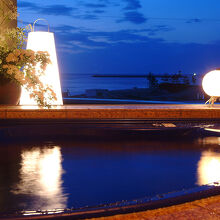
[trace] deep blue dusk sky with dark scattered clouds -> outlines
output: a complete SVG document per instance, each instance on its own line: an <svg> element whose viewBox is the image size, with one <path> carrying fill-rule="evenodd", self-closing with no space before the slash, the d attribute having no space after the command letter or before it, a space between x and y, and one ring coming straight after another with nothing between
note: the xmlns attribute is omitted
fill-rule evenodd
<svg viewBox="0 0 220 220"><path fill-rule="evenodd" d="M220 67L219 9L219 0L18 0L24 24L48 20L61 73L204 74Z"/></svg>

